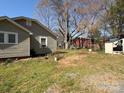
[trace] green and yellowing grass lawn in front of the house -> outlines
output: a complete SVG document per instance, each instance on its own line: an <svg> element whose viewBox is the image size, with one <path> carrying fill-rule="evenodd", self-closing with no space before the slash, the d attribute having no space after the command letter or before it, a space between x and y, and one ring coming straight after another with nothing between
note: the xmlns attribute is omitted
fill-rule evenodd
<svg viewBox="0 0 124 93"><path fill-rule="evenodd" d="M1 63L0 93L45 93L50 88L61 93L93 93L91 86L84 88L87 83L83 81L85 77L109 73L118 80L124 80L123 55L68 50L64 57L81 53L87 56L80 58L82 64L75 60L77 66L58 67L59 63L54 62L53 57Z"/></svg>

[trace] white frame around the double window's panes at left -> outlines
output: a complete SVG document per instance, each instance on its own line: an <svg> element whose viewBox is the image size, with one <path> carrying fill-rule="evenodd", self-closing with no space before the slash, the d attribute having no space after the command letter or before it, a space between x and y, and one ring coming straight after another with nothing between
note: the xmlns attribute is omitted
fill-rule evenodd
<svg viewBox="0 0 124 93"><path fill-rule="evenodd" d="M18 44L18 33L14 33L14 32L4 32L4 31L0 31L0 33L4 34L4 43L0 43L0 44ZM9 43L9 34L14 34L15 35L15 43Z"/></svg>

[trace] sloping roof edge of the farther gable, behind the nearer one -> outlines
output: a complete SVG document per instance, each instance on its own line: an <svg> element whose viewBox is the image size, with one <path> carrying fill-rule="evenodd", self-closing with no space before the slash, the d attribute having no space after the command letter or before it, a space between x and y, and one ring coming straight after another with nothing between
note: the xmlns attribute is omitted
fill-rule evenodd
<svg viewBox="0 0 124 93"><path fill-rule="evenodd" d="M48 27L46 27L45 25L43 25L41 22L39 22L39 21L36 20L36 19L29 18L29 17L24 17L24 16L12 18L12 20L14 20L14 21L15 21L15 20L20 20L20 19L31 20L31 21L36 22L36 23L39 24L41 27L43 27L48 33L52 34L55 38L57 38L57 36L56 36Z"/></svg>

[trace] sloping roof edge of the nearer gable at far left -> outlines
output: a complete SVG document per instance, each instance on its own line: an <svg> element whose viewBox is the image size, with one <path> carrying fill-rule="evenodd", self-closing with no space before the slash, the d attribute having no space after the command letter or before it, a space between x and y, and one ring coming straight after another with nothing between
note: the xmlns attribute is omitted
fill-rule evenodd
<svg viewBox="0 0 124 93"><path fill-rule="evenodd" d="M27 32L27 33L29 33L30 35L32 35L32 33L31 33L28 29L26 29L25 27L19 25L19 24L16 23L15 21L11 20L9 17L7 17L7 16L1 16L1 17L0 17L0 21L2 21L2 20L8 20L9 22L11 22L12 24L14 24L15 26L21 28L21 29L24 30L25 32Z"/></svg>

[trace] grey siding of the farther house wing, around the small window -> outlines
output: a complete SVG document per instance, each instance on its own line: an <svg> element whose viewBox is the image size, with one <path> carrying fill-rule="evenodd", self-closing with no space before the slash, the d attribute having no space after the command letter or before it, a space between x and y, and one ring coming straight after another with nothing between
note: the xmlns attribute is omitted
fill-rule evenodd
<svg viewBox="0 0 124 93"><path fill-rule="evenodd" d="M56 37L53 36L51 33L46 31L42 26L37 24L35 21L32 21L32 26L26 26L26 21L24 24L24 21L18 20L16 21L22 26L26 27L33 35L31 36L31 49L33 49L36 54L47 54L47 53L52 53L55 52L57 49L57 40ZM40 47L40 42L39 42L39 37L47 37L47 48L41 48Z"/></svg>

